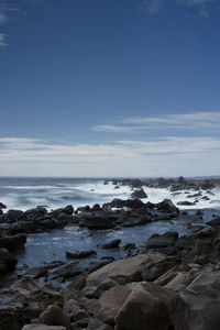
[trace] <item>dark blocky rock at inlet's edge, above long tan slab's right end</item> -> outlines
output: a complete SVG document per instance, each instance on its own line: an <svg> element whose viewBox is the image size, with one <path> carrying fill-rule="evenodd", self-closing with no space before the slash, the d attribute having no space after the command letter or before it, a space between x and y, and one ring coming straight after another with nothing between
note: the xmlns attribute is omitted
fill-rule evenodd
<svg viewBox="0 0 220 330"><path fill-rule="evenodd" d="M167 248L175 244L178 233L175 231L166 232L162 235L153 234L145 243L145 249Z"/></svg>

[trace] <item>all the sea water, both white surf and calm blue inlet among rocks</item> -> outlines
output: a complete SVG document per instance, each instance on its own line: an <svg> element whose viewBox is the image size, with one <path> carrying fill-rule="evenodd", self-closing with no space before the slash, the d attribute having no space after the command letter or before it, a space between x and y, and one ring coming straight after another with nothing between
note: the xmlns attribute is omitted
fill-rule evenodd
<svg viewBox="0 0 220 330"><path fill-rule="evenodd" d="M80 206L94 206L105 204L113 198L128 199L131 188L120 186L116 188L112 182L105 185L103 178L0 178L0 202L9 209L28 210L36 206L44 206L48 210L73 205L75 209ZM144 187L147 198L143 201L160 202L165 198L178 201L186 200L186 191L173 195L168 189ZM193 193L193 191L187 191ZM121 239L121 246L127 243L134 243L138 248L154 233L177 231L179 237L189 233L194 226L205 224L212 219L213 215L220 216L220 189L211 190L210 200L204 200L204 191L199 202L195 206L180 206L179 209L187 209L189 213L197 209L204 210L204 220L189 223L188 220L155 221L145 226L133 228L121 228L117 230L89 231L78 227L67 227L64 230L55 230L37 234L29 234L25 249L18 252L18 270L23 265L42 266L45 262L64 261L66 251L96 250L97 256L90 257L82 263L100 261L100 257L112 255L112 251L97 248L98 244L107 243L114 239ZM195 194L195 191L194 191ZM125 251L120 248L113 252L116 258L124 257ZM18 271L19 273L20 271Z"/></svg>

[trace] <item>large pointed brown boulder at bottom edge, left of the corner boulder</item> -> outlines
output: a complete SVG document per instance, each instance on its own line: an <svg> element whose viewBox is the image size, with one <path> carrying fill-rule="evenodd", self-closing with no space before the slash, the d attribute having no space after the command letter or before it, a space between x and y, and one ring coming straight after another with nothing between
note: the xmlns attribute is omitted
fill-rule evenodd
<svg viewBox="0 0 220 330"><path fill-rule="evenodd" d="M153 283L139 283L119 310L117 330L168 330L169 302L175 294Z"/></svg>

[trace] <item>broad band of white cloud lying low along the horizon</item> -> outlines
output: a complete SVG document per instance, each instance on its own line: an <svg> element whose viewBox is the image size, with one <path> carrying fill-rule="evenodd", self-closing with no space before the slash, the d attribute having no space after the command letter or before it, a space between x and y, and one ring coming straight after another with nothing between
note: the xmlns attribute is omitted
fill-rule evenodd
<svg viewBox="0 0 220 330"><path fill-rule="evenodd" d="M217 175L220 138L165 136L72 145L0 139L0 174L31 176Z"/></svg>

